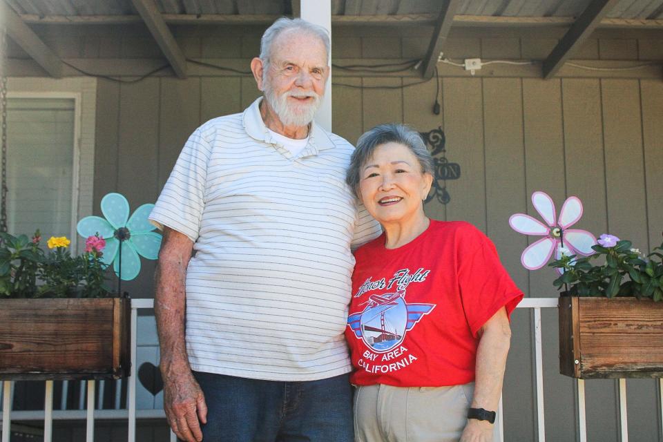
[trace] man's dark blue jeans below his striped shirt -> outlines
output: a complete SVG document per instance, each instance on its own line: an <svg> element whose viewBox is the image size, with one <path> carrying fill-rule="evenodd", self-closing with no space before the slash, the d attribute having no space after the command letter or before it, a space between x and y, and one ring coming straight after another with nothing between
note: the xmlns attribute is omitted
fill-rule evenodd
<svg viewBox="0 0 663 442"><path fill-rule="evenodd" d="M279 382L193 372L207 404L204 442L352 442L349 375Z"/></svg>

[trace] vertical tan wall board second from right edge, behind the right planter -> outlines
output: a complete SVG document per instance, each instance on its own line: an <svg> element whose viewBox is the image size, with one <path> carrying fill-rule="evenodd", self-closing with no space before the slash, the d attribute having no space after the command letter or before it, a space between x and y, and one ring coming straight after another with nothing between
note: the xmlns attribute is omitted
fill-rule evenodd
<svg viewBox="0 0 663 442"><path fill-rule="evenodd" d="M608 229L633 247L648 248L640 85L637 80L603 79L604 148L608 197ZM654 380L629 380L628 432L638 441L654 441Z"/></svg>

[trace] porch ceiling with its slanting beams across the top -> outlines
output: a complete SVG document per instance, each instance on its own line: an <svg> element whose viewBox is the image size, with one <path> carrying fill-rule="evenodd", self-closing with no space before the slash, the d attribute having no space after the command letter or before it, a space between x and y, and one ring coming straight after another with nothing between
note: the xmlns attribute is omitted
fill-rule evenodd
<svg viewBox="0 0 663 442"><path fill-rule="evenodd" d="M0 0L8 35L50 75L61 60L30 29L33 24L145 23L178 77L186 60L169 25L271 23L298 16L301 0ZM334 26L428 26L433 29L421 63L430 77L452 27L557 26L568 30L543 64L553 77L597 28L663 30L663 0L332 0Z"/></svg>

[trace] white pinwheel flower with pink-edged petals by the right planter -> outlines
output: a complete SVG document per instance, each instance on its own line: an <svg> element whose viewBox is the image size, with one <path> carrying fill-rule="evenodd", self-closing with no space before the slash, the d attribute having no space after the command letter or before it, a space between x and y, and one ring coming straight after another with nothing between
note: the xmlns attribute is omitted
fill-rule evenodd
<svg viewBox="0 0 663 442"><path fill-rule="evenodd" d="M509 225L515 231L545 237L532 242L523 251L520 257L523 267L528 270L540 269L550 260L553 252L556 252L556 258L559 259L562 245L574 254L588 256L594 253L592 246L596 244L595 236L585 230L569 229L582 216L582 202L579 198L567 198L561 206L559 218L555 203L547 193L532 193L532 204L547 225L525 213L515 213L509 218Z"/></svg>

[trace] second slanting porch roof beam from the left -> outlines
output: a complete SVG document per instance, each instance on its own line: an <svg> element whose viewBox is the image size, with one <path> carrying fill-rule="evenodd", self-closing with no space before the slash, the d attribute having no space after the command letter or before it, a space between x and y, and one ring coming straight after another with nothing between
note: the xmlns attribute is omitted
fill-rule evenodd
<svg viewBox="0 0 663 442"><path fill-rule="evenodd" d="M186 78L186 59L184 58L184 54L180 46L177 45L175 37L173 37L154 0L131 0L131 3L133 3L140 17L142 17L162 52L164 52L166 59L168 59L175 71L175 75L180 78Z"/></svg>

